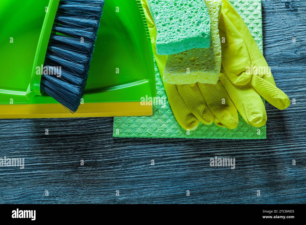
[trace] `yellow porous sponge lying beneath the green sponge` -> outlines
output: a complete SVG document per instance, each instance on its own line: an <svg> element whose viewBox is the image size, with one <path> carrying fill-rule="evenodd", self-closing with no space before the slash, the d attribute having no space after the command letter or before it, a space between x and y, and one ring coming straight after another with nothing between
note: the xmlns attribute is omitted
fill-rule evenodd
<svg viewBox="0 0 306 225"><path fill-rule="evenodd" d="M218 30L221 0L206 0L211 20L209 48L191 49L169 55L164 70L164 82L170 84L216 84L221 69L221 42Z"/></svg>

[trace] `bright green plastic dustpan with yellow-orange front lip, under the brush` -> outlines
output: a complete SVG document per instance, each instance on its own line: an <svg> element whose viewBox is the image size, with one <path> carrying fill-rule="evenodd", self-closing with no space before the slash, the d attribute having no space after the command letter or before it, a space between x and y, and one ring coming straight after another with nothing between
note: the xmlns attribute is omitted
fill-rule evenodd
<svg viewBox="0 0 306 225"><path fill-rule="evenodd" d="M138 0L105 0L84 104L75 114L45 94L27 99L49 4L49 0L0 3L0 118L152 114L152 106L139 103L141 97L156 95L156 85L151 40Z"/></svg>

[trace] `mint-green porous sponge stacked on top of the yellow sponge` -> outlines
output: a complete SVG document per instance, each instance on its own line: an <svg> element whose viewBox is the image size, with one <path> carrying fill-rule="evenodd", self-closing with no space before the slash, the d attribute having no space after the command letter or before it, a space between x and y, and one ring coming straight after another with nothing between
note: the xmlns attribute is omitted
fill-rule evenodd
<svg viewBox="0 0 306 225"><path fill-rule="evenodd" d="M210 16L204 0L147 1L157 29L157 54L210 46Z"/></svg>

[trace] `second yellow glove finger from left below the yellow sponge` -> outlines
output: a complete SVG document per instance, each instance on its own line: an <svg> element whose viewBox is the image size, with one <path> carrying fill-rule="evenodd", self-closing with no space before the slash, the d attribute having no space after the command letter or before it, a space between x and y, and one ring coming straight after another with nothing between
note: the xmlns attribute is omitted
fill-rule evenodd
<svg viewBox="0 0 306 225"><path fill-rule="evenodd" d="M177 90L193 115L203 124L209 125L214 114L209 110L198 84L177 85Z"/></svg>

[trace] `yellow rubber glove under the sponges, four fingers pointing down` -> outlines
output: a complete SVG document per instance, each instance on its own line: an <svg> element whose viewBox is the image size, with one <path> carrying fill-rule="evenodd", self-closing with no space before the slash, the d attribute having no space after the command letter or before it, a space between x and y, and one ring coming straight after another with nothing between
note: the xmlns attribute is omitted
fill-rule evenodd
<svg viewBox="0 0 306 225"><path fill-rule="evenodd" d="M146 0L141 0L146 14L151 37L156 39L156 28L147 7ZM238 35L239 36L239 35ZM163 78L167 56L152 49L157 66ZM234 129L238 125L238 113L251 126L260 127L267 121L265 106L259 94L250 83L238 86L221 70L217 84L174 85L164 83L164 88L177 122L184 129L194 130L199 125L215 122L218 126ZM231 99L234 99L234 103ZM236 109L237 108L237 109Z"/></svg>

